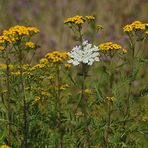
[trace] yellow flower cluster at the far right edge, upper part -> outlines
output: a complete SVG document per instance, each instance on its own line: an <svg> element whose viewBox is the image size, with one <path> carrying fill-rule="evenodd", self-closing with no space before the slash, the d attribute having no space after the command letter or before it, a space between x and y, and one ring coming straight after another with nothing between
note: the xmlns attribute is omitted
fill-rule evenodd
<svg viewBox="0 0 148 148"><path fill-rule="evenodd" d="M136 30L145 30L146 26L147 26L147 24L144 24L140 21L135 21L132 24L128 24L128 25L124 26L123 31L124 32L132 32L132 31L136 31Z"/></svg>

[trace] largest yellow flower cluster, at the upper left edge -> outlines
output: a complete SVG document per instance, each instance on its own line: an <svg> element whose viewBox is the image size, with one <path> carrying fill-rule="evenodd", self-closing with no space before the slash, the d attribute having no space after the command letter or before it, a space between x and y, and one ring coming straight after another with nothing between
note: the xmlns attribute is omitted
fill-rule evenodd
<svg viewBox="0 0 148 148"><path fill-rule="evenodd" d="M29 36L38 33L39 30L36 27L14 26L8 30L4 30L0 36L0 43L15 43L23 36Z"/></svg>

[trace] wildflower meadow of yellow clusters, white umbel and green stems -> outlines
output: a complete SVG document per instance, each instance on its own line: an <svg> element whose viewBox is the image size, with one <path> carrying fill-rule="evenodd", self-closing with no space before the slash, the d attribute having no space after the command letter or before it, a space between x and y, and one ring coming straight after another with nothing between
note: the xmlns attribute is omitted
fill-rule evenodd
<svg viewBox="0 0 148 148"><path fill-rule="evenodd" d="M1 148L147 148L148 23L123 25L124 45L100 43L97 34L109 28L95 16L62 23L74 46L37 62L40 28L0 33Z"/></svg>

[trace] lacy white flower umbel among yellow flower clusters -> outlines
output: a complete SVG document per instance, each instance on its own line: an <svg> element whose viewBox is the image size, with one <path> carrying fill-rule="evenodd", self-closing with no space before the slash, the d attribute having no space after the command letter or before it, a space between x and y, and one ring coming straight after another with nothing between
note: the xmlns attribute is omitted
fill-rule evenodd
<svg viewBox="0 0 148 148"><path fill-rule="evenodd" d="M92 65L94 61L99 60L99 49L97 46L89 44L88 41L84 41L82 45L75 46L70 52L68 52L70 60L68 63L74 66L80 63Z"/></svg>

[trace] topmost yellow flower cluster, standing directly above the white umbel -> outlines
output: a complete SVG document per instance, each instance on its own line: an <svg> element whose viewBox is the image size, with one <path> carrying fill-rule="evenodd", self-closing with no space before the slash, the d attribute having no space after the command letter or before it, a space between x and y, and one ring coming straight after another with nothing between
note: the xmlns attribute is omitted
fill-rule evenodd
<svg viewBox="0 0 148 148"><path fill-rule="evenodd" d="M70 17L67 20L64 21L64 24L76 24L81 25L84 24L86 21L94 21L94 16L80 16L76 15L74 17Z"/></svg>

